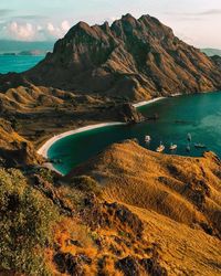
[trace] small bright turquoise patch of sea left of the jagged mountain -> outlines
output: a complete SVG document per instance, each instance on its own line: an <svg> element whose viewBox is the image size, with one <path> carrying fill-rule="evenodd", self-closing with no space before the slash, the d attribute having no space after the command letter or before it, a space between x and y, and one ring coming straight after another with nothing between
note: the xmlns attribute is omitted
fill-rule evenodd
<svg viewBox="0 0 221 276"><path fill-rule="evenodd" d="M35 55L0 55L0 73L21 73L33 67L43 59L44 56Z"/></svg>

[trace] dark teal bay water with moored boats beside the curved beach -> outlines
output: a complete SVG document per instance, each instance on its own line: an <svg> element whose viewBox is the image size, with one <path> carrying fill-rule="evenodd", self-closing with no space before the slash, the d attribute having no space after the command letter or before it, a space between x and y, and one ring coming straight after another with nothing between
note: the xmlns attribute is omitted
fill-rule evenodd
<svg viewBox="0 0 221 276"><path fill-rule="evenodd" d="M178 145L173 153L182 156L201 156L203 150L193 146L194 142L201 142L221 157L221 92L166 98L140 107L139 110L146 116L157 113L159 120L105 127L65 137L49 149L50 158L62 160L62 163L54 167L67 173L106 146L127 138L137 138L143 147L151 150L162 141L167 153L170 142L173 142ZM182 124L176 120L182 120ZM192 136L189 153L186 151L188 132ZM145 135L152 138L149 145L144 141Z"/></svg>

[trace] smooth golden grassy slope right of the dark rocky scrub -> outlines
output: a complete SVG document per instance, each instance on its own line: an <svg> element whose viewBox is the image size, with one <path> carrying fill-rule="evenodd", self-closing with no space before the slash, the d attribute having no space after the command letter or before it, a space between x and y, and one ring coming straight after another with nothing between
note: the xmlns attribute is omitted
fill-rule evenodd
<svg viewBox="0 0 221 276"><path fill-rule="evenodd" d="M160 246L169 275L221 275L221 162L159 155L134 141L115 144L76 168L145 222L145 237ZM125 255L128 255L126 252Z"/></svg>

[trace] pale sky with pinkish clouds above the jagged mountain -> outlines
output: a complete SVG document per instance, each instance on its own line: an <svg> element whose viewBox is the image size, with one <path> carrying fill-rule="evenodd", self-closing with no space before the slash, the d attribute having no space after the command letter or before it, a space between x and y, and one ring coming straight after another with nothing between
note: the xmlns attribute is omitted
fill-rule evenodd
<svg viewBox="0 0 221 276"><path fill-rule="evenodd" d="M197 47L221 49L221 0L0 0L0 40L55 41L78 21L157 17Z"/></svg>

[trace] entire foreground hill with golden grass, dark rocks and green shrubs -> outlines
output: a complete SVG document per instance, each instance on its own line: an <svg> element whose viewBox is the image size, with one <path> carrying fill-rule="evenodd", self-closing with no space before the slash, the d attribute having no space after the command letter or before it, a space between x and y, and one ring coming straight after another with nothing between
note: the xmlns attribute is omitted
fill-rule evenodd
<svg viewBox="0 0 221 276"><path fill-rule="evenodd" d="M65 178L1 164L0 275L220 275L220 169L135 141Z"/></svg>

